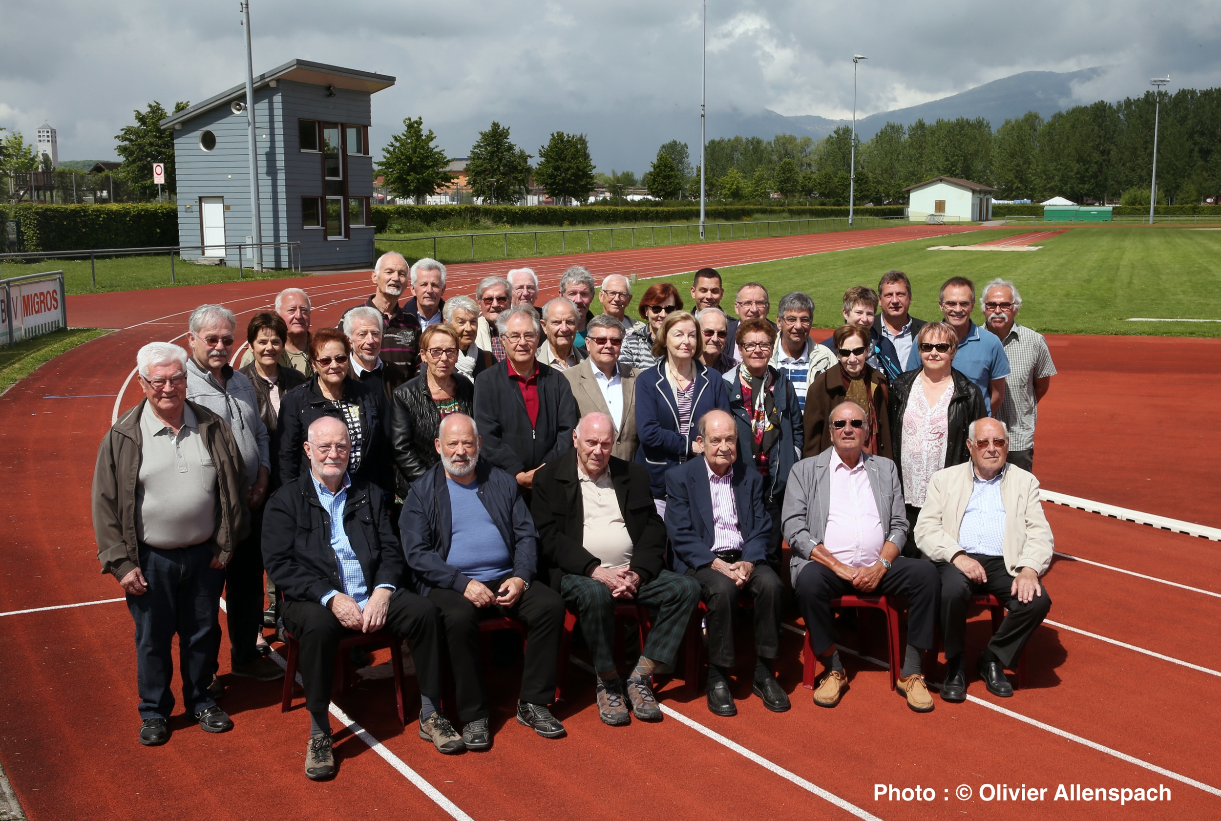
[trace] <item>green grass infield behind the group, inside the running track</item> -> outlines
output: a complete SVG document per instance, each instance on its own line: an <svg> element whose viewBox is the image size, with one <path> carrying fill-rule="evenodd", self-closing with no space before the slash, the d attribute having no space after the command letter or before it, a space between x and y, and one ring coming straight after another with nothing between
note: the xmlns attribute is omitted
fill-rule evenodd
<svg viewBox="0 0 1221 821"><path fill-rule="evenodd" d="M1043 241L1043 249L1034 252L927 250L1015 233L1021 232L971 232L722 269L729 293L723 304L731 308L737 286L755 280L772 293L772 316L784 293L805 291L817 305L814 325L830 327L839 324L845 288L877 287L882 274L899 269L911 277L912 315L921 319L940 318L938 290L949 277L969 277L979 288L1000 276L1022 293L1018 321L1040 332L1221 336L1221 321L1123 321L1221 320L1221 304L1211 298L1221 290L1221 231L1076 227ZM669 281L686 299L690 275ZM982 321L978 305L974 319Z"/></svg>

